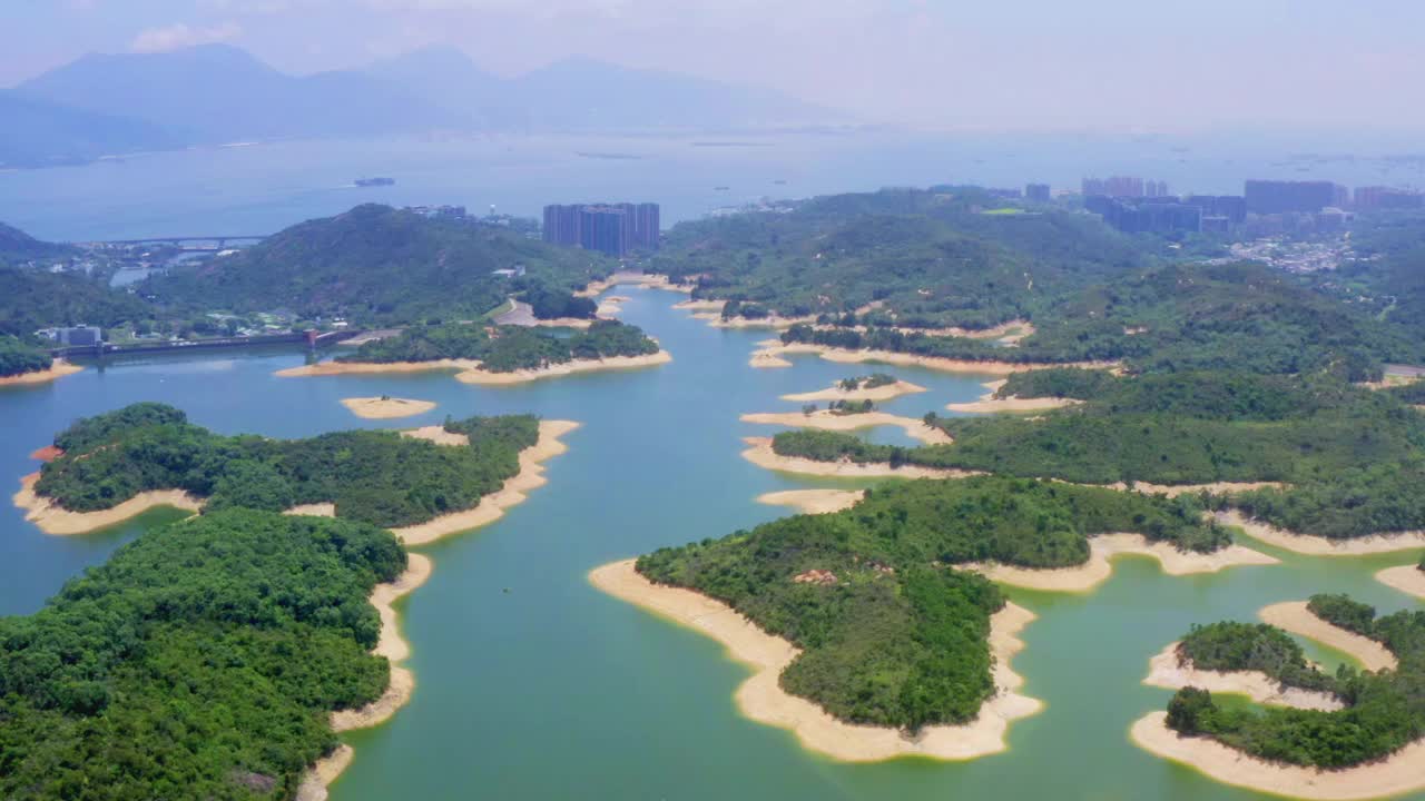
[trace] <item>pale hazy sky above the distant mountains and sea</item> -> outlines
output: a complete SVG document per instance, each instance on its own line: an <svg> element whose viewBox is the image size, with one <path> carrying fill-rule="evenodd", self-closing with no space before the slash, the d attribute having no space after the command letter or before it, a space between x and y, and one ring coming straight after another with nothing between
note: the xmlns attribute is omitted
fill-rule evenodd
<svg viewBox="0 0 1425 801"><path fill-rule="evenodd" d="M0 0L0 86L229 41L278 68L422 44L586 54L936 128L1425 130L1422 0Z"/></svg>

